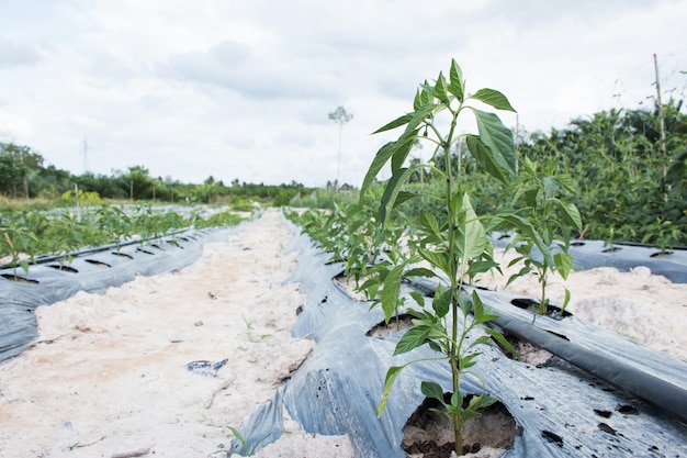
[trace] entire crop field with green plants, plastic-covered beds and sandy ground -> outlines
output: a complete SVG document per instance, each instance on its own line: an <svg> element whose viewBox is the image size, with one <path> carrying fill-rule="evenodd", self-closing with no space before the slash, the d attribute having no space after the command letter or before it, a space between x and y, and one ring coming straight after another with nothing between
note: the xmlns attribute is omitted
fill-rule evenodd
<svg viewBox="0 0 687 458"><path fill-rule="evenodd" d="M42 390L0 391L0 447L27 424L44 456L686 455L680 104L661 113L667 135L656 113L609 112L516 147L505 94L468 91L455 62L432 81L375 132L397 136L329 210L239 224L227 208L77 193L69 209L3 213L0 300L34 334L0 370L44 371ZM461 133L466 118L476 129ZM69 268L82 283L66 287ZM100 401L128 391L154 405ZM36 422L44 402L68 416Z"/></svg>

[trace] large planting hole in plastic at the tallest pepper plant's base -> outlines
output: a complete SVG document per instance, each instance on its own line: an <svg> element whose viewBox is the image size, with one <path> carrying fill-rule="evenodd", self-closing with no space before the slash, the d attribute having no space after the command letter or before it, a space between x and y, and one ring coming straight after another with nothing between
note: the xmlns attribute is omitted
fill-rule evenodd
<svg viewBox="0 0 687 458"><path fill-rule="evenodd" d="M450 402L450 393L444 394ZM466 406L472 395L464 399ZM451 422L435 410L443 411L436 399L426 398L403 428L403 449L427 457L448 457L455 448ZM463 425L463 454L477 453L483 447L507 449L515 440L516 421L506 406L496 402L480 410L481 415L469 418Z"/></svg>

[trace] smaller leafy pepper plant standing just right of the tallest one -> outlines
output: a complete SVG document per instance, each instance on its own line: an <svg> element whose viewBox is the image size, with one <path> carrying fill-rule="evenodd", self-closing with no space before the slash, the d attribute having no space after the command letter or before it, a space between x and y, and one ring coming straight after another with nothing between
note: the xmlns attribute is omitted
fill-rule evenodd
<svg viewBox="0 0 687 458"><path fill-rule="evenodd" d="M582 231L579 211L574 203L563 198L565 193L573 192L573 181L564 175L556 175L555 167L552 164L540 171L537 163L526 157L520 167L520 177L511 185L515 189L514 204L520 203L522 208L516 213L500 215L518 231L506 250L515 247L520 256L513 259L509 267L519 261L525 262L522 269L508 279L507 284L530 272L537 276L541 284L537 312L542 315L547 314L549 306L547 287L550 276L559 272L563 279L567 278L573 268L573 258L568 254L572 231ZM555 253L552 247L555 247ZM563 310L570 299L570 291L565 288Z"/></svg>

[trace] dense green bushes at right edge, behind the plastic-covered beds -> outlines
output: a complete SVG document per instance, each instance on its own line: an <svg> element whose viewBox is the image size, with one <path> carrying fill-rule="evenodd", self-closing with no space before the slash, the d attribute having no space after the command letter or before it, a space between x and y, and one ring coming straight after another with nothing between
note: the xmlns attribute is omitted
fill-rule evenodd
<svg viewBox="0 0 687 458"><path fill-rule="evenodd" d="M576 119L565 130L523 138L520 150L572 177L585 237L687 246L687 115L674 99L663 112L667 156L657 107Z"/></svg>

